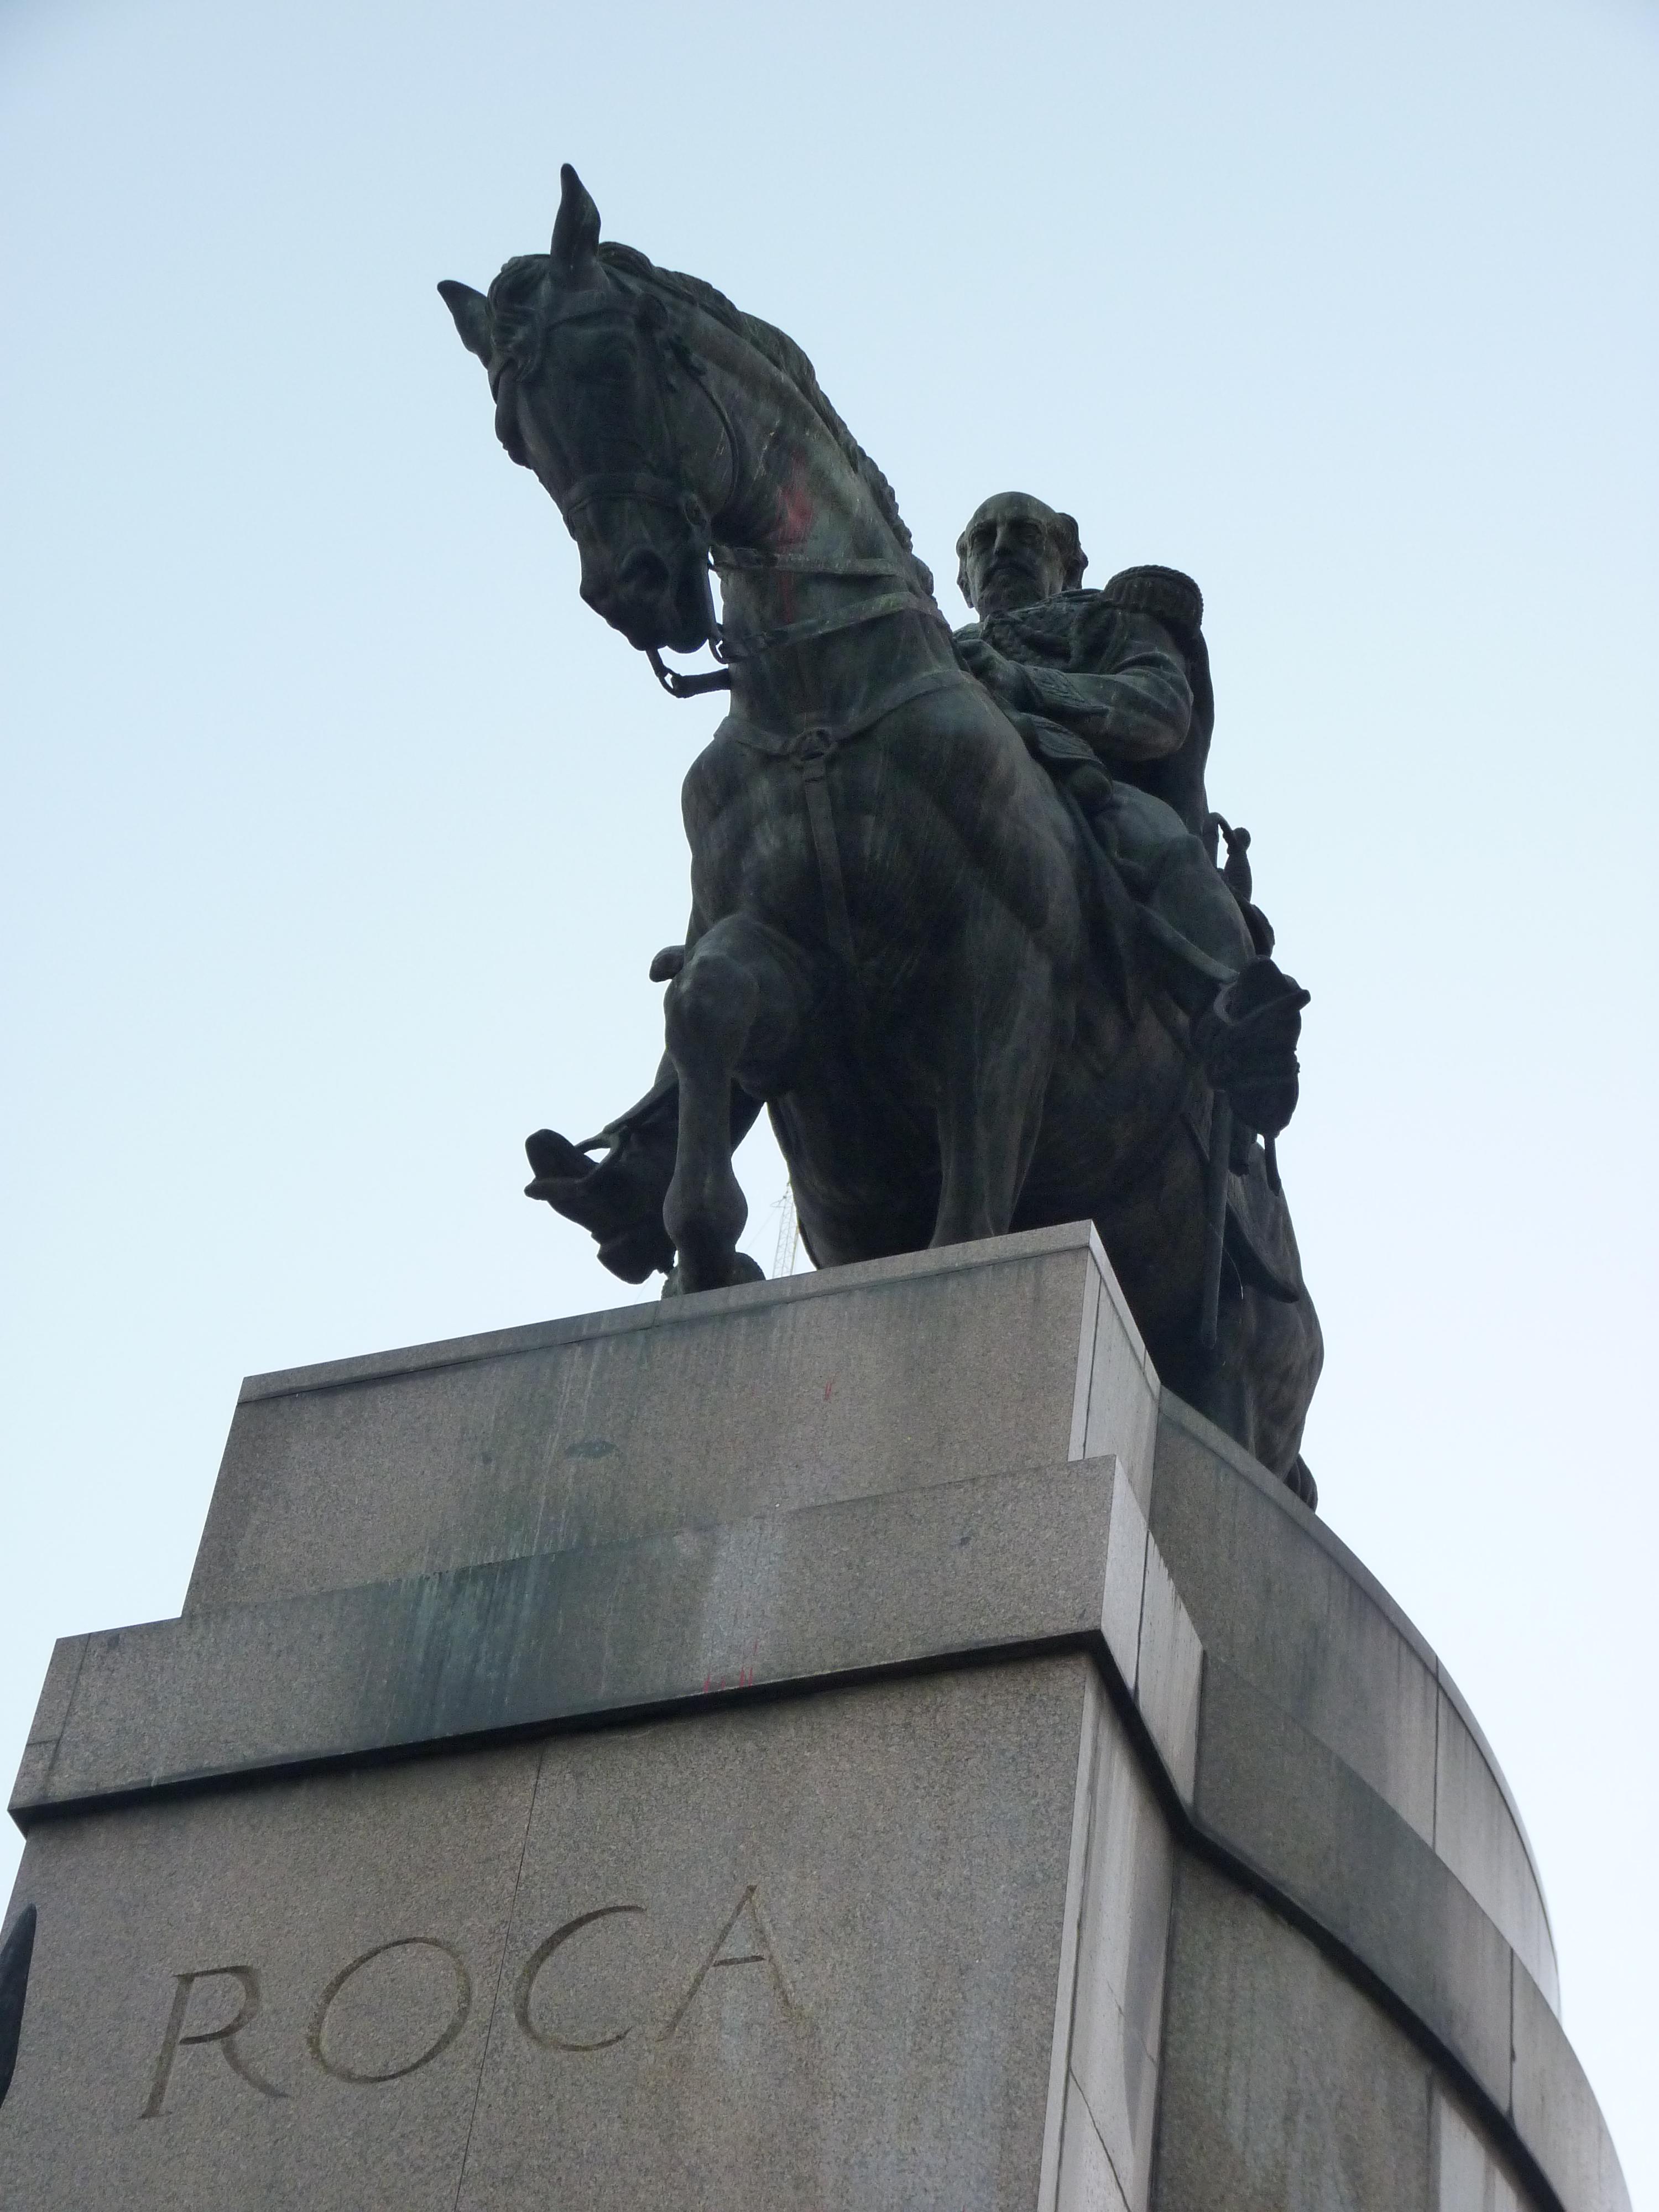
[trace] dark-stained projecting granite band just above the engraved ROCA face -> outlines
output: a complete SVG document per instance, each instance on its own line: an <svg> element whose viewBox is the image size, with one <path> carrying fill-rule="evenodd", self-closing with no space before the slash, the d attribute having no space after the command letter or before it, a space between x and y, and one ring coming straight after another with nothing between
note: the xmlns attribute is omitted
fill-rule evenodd
<svg viewBox="0 0 1659 2212"><path fill-rule="evenodd" d="M1113 1542L1113 1513L1124 1535ZM1119 1571L1117 1557L1126 1553ZM1115 1460L215 1606L75 1639L75 1694L13 1816L723 1690L1015 1646L1082 1646L1139 1586L1146 1524ZM1192 1626L1157 1568L1144 1703L1190 1787ZM1133 1615L1128 1615L1133 1626ZM1126 1641L1135 1681L1135 1641ZM46 1745L42 1734L40 1747Z"/></svg>

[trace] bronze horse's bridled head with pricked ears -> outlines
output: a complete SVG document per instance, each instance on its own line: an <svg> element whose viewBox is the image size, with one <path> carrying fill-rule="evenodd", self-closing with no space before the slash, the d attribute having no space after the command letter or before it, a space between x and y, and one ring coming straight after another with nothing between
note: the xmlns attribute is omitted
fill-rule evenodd
<svg viewBox="0 0 1659 2212"><path fill-rule="evenodd" d="M489 369L495 436L577 542L582 597L630 646L692 653L714 626L710 515L730 447L714 409L681 420L697 363L661 294L599 254L599 210L568 164L562 179L551 252L509 261L489 296L438 290Z"/></svg>

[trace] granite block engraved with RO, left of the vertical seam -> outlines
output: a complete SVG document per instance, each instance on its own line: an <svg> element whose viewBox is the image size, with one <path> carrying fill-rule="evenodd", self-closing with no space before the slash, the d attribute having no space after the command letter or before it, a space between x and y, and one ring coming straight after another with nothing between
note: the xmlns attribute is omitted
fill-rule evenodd
<svg viewBox="0 0 1659 2212"><path fill-rule="evenodd" d="M453 2212L535 1772L495 1752L31 1838L0 2203Z"/></svg>

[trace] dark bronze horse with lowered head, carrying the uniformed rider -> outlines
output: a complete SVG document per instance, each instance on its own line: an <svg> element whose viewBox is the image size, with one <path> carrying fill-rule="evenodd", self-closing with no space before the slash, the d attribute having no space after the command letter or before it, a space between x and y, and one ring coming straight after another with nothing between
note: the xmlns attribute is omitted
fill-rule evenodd
<svg viewBox="0 0 1659 2212"><path fill-rule="evenodd" d="M710 644L730 670L684 785L686 945L653 964L664 1073L604 1139L531 1139L531 1192L633 1281L748 1281L732 1146L763 1102L821 1267L1091 1219L1164 1380L1307 1493L1321 1336L1272 1159L1232 1148L1206 1332L1221 1164L1190 1013L1150 936L1119 927L1102 958L1088 827L958 666L894 493L805 354L602 246L571 168L549 254L489 296L440 290L588 606L672 690L728 677L670 675L664 650ZM1239 967L1250 951L1241 922Z"/></svg>

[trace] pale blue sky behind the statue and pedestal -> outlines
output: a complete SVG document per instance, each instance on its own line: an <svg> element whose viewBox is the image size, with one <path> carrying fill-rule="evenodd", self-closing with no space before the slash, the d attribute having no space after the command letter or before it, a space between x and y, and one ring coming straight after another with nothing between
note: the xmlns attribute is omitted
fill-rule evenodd
<svg viewBox="0 0 1659 2212"><path fill-rule="evenodd" d="M0 7L0 1759L53 1635L177 1610L243 1371L617 1303L518 1146L655 1064L717 708L577 602L431 290L562 159L807 347L953 619L1011 484L1199 577L1314 991L1307 1458L1504 1761L1659 2203L1637 0Z"/></svg>

